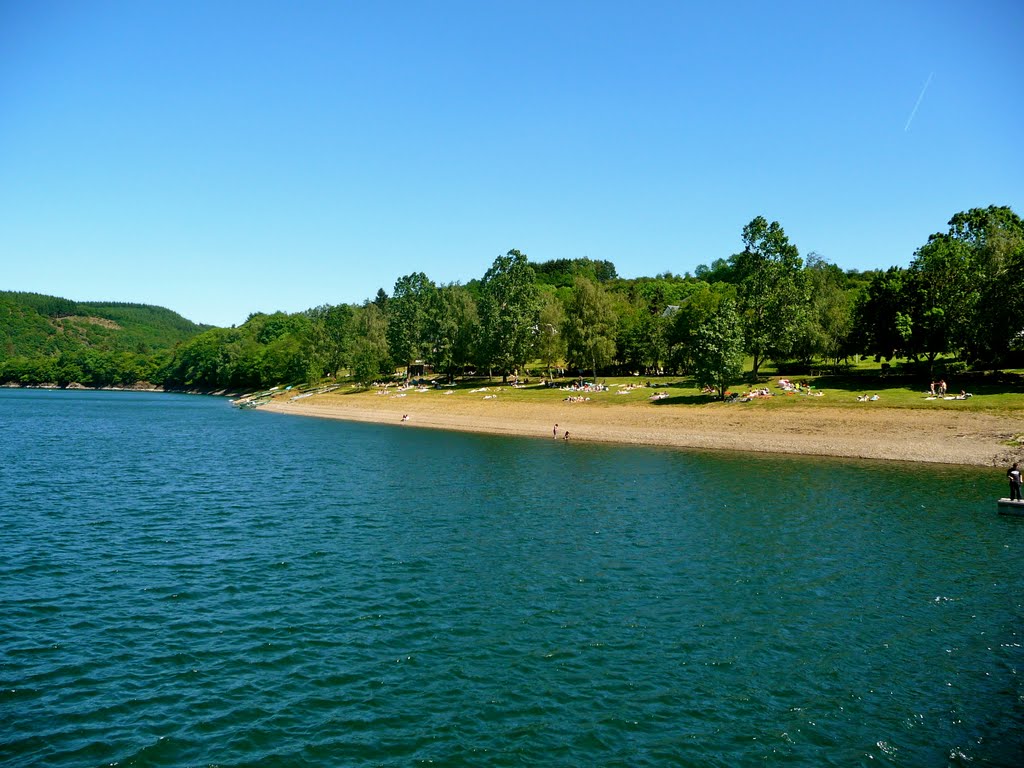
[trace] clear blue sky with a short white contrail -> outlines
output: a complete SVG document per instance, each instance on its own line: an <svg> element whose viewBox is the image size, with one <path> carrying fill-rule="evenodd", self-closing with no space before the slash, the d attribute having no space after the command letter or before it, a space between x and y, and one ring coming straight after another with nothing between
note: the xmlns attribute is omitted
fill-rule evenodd
<svg viewBox="0 0 1024 768"><path fill-rule="evenodd" d="M0 288L200 323L1024 215L1024 3L0 0ZM927 86L927 87L926 87Z"/></svg>

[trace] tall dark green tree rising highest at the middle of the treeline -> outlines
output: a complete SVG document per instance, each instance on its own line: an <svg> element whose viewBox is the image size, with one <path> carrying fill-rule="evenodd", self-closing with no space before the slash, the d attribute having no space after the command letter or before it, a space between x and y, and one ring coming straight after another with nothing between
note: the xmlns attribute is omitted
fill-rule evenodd
<svg viewBox="0 0 1024 768"><path fill-rule="evenodd" d="M539 322L540 294L524 254L499 256L480 283L482 354L502 380L525 366Z"/></svg>

